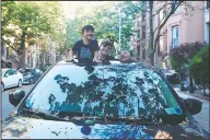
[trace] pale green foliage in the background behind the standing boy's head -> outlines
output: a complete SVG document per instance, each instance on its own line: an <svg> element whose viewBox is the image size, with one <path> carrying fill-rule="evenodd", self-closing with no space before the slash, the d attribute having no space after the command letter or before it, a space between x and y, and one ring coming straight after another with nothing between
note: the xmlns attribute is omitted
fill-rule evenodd
<svg viewBox="0 0 210 140"><path fill-rule="evenodd" d="M82 9L82 8L80 8ZM121 12L121 47L130 48L129 42L131 36L132 21L137 13L141 10L141 1L136 3L124 1L120 3ZM67 42L68 47L77 39L81 38L81 27L85 24L92 24L95 28L97 39L108 38L110 42L118 43L119 39L119 13L117 7L113 2L107 2L105 5L97 5L92 13L78 14L73 20L69 20L67 25ZM73 35L73 36L72 36Z"/></svg>

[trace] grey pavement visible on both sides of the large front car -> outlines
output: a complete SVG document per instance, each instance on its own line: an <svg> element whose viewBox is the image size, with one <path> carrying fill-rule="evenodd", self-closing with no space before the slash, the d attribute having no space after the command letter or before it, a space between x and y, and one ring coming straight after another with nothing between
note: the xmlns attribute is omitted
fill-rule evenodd
<svg viewBox="0 0 210 140"><path fill-rule="evenodd" d="M33 85L23 85L20 89L28 92L32 86ZM9 102L9 92L11 92L13 90L16 90L16 89L5 90L2 93L2 120L10 114L10 112L12 112L12 109L14 109L14 106L11 105ZM188 94L182 93L178 89L175 89L175 91L183 98L187 98L187 97L196 98ZM199 100L199 98L197 98L197 100ZM209 130L209 101L203 101L203 100L200 100L200 101L202 102L202 109L199 114L195 115L194 117L198 120L198 122L201 125L201 127L203 129L206 129L208 132L210 132L210 130Z"/></svg>

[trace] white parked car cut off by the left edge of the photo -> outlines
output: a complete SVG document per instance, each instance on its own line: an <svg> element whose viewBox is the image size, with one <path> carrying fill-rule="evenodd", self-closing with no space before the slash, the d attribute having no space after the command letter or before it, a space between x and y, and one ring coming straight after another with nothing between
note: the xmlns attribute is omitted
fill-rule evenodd
<svg viewBox="0 0 210 140"><path fill-rule="evenodd" d="M8 88L22 86L23 75L12 68L1 69L1 91Z"/></svg>

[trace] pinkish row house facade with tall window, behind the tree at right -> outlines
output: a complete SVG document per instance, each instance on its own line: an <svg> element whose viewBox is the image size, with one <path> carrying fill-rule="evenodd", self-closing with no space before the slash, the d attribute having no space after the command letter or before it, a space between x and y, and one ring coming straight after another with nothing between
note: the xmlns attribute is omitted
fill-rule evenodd
<svg viewBox="0 0 210 140"><path fill-rule="evenodd" d="M190 1L189 1L190 2ZM160 1L154 1L153 11L156 11L161 4ZM199 10L191 11L187 9L188 15L185 14L185 7L180 5L173 15L167 20L162 27L158 48L154 55L154 63L161 65L165 62L168 66L168 54L172 48L178 47L183 43L205 42L205 7L203 1L191 1L192 7ZM160 25L162 19L165 16L165 11L162 10L159 14L153 16L153 31ZM141 11L136 20L137 26L133 30L136 42L136 50L140 61L147 59L149 47L149 12Z"/></svg>

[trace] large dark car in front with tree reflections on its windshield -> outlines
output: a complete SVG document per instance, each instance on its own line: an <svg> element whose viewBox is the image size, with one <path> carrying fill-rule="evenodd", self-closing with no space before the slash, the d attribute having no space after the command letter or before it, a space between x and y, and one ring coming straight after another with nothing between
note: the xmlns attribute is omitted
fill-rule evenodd
<svg viewBox="0 0 210 140"><path fill-rule="evenodd" d="M180 98L156 69L140 63L55 63L15 107L2 139L209 139L192 115L202 102Z"/></svg>

